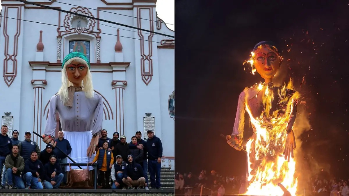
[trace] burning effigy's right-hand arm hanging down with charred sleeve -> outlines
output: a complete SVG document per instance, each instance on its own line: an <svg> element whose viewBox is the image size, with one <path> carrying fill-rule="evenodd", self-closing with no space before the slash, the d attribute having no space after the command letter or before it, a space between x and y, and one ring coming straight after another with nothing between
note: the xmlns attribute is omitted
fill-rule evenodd
<svg viewBox="0 0 349 196"><path fill-rule="evenodd" d="M295 134L293 133L292 127L295 123L296 116L297 116L297 103L298 103L297 100L294 101L293 110L290 115L290 120L286 128L287 137L286 137L285 149L283 151L283 154L285 155L285 160L287 161L290 161L290 158L294 157L293 150L296 149L296 138L295 138Z"/></svg>

